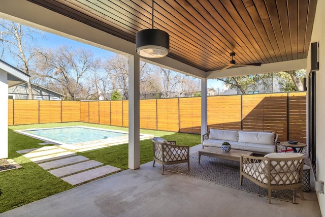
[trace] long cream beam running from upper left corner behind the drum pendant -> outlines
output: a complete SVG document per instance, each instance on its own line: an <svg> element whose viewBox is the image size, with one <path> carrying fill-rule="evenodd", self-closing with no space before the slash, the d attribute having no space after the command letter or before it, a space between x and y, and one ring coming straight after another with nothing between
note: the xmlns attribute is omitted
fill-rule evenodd
<svg viewBox="0 0 325 217"><path fill-rule="evenodd" d="M91 27L28 1L1 1L0 18L18 22L111 52L126 56L138 55L135 51L136 45L132 42L120 39L100 29ZM197 78L204 78L207 74L202 70L188 66L170 57L156 59L141 58L141 60Z"/></svg>

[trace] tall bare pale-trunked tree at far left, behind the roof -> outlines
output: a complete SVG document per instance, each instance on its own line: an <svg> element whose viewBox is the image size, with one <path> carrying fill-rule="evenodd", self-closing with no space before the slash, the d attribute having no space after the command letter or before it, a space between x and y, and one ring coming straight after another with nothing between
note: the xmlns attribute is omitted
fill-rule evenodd
<svg viewBox="0 0 325 217"><path fill-rule="evenodd" d="M13 57L16 60L17 68L28 75L34 75L31 65L35 56L39 54L37 40L39 37L43 37L43 33L4 19L0 19L0 28L1 58L6 58L7 55ZM28 82L28 99L33 99L31 79L32 77Z"/></svg>

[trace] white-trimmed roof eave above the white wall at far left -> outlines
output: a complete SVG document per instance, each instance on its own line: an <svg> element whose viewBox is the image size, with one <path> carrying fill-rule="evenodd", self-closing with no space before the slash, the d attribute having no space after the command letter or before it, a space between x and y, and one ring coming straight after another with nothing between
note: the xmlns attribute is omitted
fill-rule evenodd
<svg viewBox="0 0 325 217"><path fill-rule="evenodd" d="M0 59L0 70L8 74L8 86L16 86L29 81L29 75Z"/></svg>

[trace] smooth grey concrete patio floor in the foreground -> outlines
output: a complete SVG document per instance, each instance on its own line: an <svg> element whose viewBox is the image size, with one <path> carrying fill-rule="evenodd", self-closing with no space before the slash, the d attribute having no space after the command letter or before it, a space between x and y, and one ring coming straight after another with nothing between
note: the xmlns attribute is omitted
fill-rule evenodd
<svg viewBox="0 0 325 217"><path fill-rule="evenodd" d="M267 197L169 171L161 175L159 168L149 162L0 216L321 216L315 192L304 192L298 204L269 204Z"/></svg>

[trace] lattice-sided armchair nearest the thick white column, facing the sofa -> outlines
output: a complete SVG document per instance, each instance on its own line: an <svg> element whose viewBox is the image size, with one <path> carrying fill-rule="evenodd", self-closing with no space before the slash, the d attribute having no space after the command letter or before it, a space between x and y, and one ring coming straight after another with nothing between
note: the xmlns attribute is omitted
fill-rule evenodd
<svg viewBox="0 0 325 217"><path fill-rule="evenodd" d="M153 167L155 162L163 165L164 174L165 165L186 163L189 171L189 146L176 145L176 141L158 142L151 139L153 146Z"/></svg>

